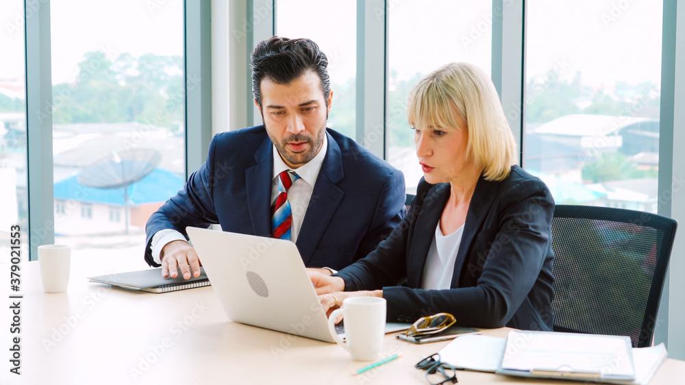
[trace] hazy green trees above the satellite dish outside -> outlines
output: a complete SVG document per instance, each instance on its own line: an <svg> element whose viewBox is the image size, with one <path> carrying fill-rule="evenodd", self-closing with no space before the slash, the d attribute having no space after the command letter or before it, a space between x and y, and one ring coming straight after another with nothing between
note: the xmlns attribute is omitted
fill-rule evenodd
<svg viewBox="0 0 685 385"><path fill-rule="evenodd" d="M177 129L184 120L181 56L91 51L72 83L53 86L54 123L140 122Z"/></svg>

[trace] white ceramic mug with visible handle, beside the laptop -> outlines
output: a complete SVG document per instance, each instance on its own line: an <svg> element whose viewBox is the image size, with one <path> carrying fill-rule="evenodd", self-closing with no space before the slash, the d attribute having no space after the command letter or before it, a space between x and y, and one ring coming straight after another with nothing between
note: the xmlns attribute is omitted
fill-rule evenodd
<svg viewBox="0 0 685 385"><path fill-rule="evenodd" d="M336 333L336 318L343 314L345 341ZM381 297L350 297L328 318L328 329L338 345L352 354L353 360L371 361L380 357L385 335L386 300Z"/></svg>

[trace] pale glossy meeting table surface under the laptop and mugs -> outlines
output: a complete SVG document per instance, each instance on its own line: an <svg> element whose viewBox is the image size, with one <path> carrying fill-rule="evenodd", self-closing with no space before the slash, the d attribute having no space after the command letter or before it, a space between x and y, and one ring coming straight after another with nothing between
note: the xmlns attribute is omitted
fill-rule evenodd
<svg viewBox="0 0 685 385"><path fill-rule="evenodd" d="M447 342L413 345L388 334L393 362L353 377L355 362L334 344L234 323L211 287L153 294L88 283L86 277L145 269L142 256L74 252L66 293L45 294L38 262L21 264L21 375L10 373L9 266L0 324L6 384L427 384L414 364ZM504 337L508 329L484 330ZM459 371L460 384L571 384ZM669 359L651 381L685 384L685 362Z"/></svg>

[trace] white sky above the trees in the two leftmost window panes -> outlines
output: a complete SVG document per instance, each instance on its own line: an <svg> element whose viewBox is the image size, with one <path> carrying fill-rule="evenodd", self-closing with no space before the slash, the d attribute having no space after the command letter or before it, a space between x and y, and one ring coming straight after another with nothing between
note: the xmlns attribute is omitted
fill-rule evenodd
<svg viewBox="0 0 685 385"><path fill-rule="evenodd" d="M0 79L23 77L23 0L2 0ZM73 82L88 51L183 55L182 0L51 0L53 84ZM9 25L9 26L8 26ZM16 30L14 27L21 30Z"/></svg>

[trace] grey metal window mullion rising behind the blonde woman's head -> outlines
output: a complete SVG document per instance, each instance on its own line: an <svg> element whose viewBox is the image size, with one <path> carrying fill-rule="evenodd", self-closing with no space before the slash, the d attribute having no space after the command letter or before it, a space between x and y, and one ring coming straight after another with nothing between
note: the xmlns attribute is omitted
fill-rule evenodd
<svg viewBox="0 0 685 385"><path fill-rule="evenodd" d="M525 0L493 0L492 79L504 114L519 146L525 147Z"/></svg>

